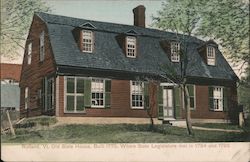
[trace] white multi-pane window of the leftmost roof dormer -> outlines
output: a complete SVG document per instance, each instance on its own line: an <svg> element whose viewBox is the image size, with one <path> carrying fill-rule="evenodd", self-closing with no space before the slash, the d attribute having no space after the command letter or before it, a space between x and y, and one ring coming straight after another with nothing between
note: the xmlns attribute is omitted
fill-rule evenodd
<svg viewBox="0 0 250 162"><path fill-rule="evenodd" d="M89 30L82 30L82 51L92 53L93 33Z"/></svg>

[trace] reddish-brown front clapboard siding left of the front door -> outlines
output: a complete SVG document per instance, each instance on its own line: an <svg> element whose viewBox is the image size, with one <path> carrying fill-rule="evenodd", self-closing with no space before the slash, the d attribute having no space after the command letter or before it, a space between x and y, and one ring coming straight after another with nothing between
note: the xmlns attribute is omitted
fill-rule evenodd
<svg viewBox="0 0 250 162"><path fill-rule="evenodd" d="M156 85L150 85L156 92ZM156 93L155 93L156 94ZM64 113L64 76L59 78L59 116L60 117L141 117L147 118L144 109L131 109L130 106L130 81L111 81L111 106L110 108L87 108L86 113ZM156 100L156 95L150 98ZM153 107L153 116L156 117L157 105Z"/></svg>

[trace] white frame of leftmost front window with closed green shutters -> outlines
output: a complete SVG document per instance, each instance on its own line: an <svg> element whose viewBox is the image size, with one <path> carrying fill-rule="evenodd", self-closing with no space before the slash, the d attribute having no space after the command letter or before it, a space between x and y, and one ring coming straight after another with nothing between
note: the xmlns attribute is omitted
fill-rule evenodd
<svg viewBox="0 0 250 162"><path fill-rule="evenodd" d="M74 94L73 93L67 93L67 78L73 78L74 79ZM77 96L84 96L84 94L78 94L76 93L76 80L77 78L82 78L82 79L86 79L85 77L75 77L75 76L64 76L64 113L86 113L86 110L84 109L83 111L79 111L76 109L76 98ZM67 110L67 96L75 96L75 99L74 99L74 111L68 111Z"/></svg>

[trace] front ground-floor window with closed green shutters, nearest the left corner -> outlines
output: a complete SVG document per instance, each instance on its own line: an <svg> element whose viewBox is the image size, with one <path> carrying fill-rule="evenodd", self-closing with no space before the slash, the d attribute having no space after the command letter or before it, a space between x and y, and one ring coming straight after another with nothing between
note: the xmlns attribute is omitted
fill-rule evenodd
<svg viewBox="0 0 250 162"><path fill-rule="evenodd" d="M66 77L66 112L84 112L84 79Z"/></svg>

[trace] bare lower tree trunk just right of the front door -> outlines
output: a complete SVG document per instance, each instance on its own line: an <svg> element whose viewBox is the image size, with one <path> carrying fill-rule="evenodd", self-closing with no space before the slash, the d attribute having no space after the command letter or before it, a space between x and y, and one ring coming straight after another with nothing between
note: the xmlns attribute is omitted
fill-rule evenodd
<svg viewBox="0 0 250 162"><path fill-rule="evenodd" d="M193 129L192 129L192 123L191 123L191 112L190 112L190 98L189 98L189 92L186 84L183 85L183 91L184 91L184 108L186 111L186 125L187 125L187 131L188 135L193 135Z"/></svg>

